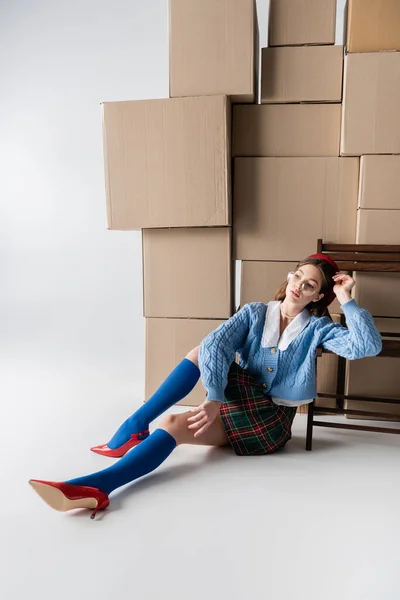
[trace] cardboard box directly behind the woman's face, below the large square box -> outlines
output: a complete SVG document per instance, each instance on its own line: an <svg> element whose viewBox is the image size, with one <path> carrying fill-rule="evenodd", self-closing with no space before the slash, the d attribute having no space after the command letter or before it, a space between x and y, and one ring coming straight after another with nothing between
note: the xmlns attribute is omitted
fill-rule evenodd
<svg viewBox="0 0 400 600"><path fill-rule="evenodd" d="M250 302L267 303L273 300L278 289L285 283L287 274L295 270L299 261L300 259L293 262L242 261L240 305ZM329 312L332 315L339 311L342 312L340 304L335 300L330 305Z"/></svg>

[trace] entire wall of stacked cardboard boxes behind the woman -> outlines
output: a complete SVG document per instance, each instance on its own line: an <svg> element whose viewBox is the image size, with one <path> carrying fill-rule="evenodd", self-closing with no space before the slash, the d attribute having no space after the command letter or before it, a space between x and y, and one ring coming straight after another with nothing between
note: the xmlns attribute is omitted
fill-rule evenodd
<svg viewBox="0 0 400 600"><path fill-rule="evenodd" d="M396 1L382 2L377 22L398 19ZM232 259L240 303L268 301L318 238L371 243L371 223L396 237L400 157L377 155L400 154L400 53L375 51L398 50L400 28L370 49L362 3L349 3L348 49L363 54L345 58L343 110L336 0L271 0L261 104L255 0L169 0L170 97L103 105L108 227L143 235L146 398L233 313ZM369 281L357 286L366 308ZM384 305L391 314L373 312L400 317ZM334 391L328 358L321 392ZM198 384L184 403L203 399Z"/></svg>

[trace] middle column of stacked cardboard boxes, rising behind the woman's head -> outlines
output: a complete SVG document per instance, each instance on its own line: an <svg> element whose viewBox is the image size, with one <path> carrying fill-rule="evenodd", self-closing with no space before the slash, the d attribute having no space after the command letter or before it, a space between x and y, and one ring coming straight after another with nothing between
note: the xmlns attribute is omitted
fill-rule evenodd
<svg viewBox="0 0 400 600"><path fill-rule="evenodd" d="M241 304L273 299L318 238L355 242L359 159L340 157L343 47L333 45L335 20L336 0L271 0L261 104L234 107ZM336 301L334 320L340 312ZM319 361L320 392L336 390L336 369L335 357Z"/></svg>

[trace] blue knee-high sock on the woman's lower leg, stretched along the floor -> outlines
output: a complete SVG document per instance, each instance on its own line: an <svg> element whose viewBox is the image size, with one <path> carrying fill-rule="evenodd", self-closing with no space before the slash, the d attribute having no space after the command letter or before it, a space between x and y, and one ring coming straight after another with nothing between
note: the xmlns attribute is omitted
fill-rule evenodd
<svg viewBox="0 0 400 600"><path fill-rule="evenodd" d="M70 479L66 483L96 487L109 494L121 485L154 471L175 447L176 441L171 434L164 429L156 429L132 452L128 452L111 467L91 475Z"/></svg>

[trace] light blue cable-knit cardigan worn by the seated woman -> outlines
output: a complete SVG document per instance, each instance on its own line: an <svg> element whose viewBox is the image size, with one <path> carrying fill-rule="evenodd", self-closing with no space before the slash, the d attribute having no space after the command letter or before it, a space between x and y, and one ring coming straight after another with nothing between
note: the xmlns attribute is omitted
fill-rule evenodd
<svg viewBox="0 0 400 600"><path fill-rule="evenodd" d="M266 394L308 401L317 395L318 346L350 360L375 356L382 349L371 314L353 299L342 305L347 328L329 317L311 316L304 309L281 337L279 304L246 304L202 341L199 368L208 400L224 401L228 371L236 353L240 366L265 384Z"/></svg>

